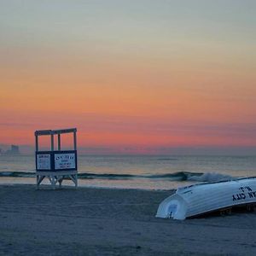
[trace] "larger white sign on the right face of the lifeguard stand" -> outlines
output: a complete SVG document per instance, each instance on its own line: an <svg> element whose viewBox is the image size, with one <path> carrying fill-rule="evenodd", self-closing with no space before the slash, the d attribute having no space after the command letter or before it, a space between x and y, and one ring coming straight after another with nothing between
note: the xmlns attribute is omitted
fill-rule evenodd
<svg viewBox="0 0 256 256"><path fill-rule="evenodd" d="M75 169L76 159L74 153L55 154L55 170Z"/></svg>

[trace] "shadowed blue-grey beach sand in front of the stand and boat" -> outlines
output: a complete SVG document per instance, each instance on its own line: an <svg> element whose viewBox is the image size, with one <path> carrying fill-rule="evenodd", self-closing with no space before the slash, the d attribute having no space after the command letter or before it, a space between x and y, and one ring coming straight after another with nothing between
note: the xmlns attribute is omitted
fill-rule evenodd
<svg viewBox="0 0 256 256"><path fill-rule="evenodd" d="M0 255L256 255L256 213L155 218L172 191L0 186Z"/></svg>

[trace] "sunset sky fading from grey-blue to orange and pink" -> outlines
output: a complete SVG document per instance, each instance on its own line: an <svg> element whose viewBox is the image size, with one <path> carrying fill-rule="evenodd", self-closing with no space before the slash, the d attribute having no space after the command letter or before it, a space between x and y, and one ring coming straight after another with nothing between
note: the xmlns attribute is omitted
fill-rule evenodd
<svg viewBox="0 0 256 256"><path fill-rule="evenodd" d="M256 1L1 0L0 90L0 144L254 150Z"/></svg>

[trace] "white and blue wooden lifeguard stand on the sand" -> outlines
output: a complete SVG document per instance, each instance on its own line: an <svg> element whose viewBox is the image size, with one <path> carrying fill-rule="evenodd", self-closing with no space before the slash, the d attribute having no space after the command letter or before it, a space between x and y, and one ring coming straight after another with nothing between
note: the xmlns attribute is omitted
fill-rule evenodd
<svg viewBox="0 0 256 256"><path fill-rule="evenodd" d="M61 134L73 133L73 150L61 150ZM58 137L58 150L55 150L55 135ZM77 129L62 129L62 130L41 130L35 131L36 137L36 176L37 187L44 180L44 177L49 179L53 189L55 185L61 183L63 179L70 179L78 186L78 160L77 160ZM38 144L39 136L49 136L51 150L40 151Z"/></svg>

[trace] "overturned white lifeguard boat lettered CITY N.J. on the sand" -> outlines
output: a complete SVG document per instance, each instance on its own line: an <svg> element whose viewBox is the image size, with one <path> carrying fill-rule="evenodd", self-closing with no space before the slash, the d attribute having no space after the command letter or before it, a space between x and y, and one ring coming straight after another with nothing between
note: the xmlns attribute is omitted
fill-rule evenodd
<svg viewBox="0 0 256 256"><path fill-rule="evenodd" d="M256 203L256 177L178 188L160 203L156 217L185 219L207 212Z"/></svg>

